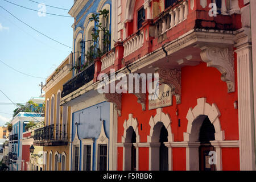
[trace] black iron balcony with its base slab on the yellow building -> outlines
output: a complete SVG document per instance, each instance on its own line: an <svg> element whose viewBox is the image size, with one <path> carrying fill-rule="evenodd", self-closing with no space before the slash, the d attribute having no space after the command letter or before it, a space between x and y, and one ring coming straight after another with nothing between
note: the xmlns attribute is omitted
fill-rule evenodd
<svg viewBox="0 0 256 182"><path fill-rule="evenodd" d="M67 125L54 124L35 130L35 146L64 146L68 144Z"/></svg>

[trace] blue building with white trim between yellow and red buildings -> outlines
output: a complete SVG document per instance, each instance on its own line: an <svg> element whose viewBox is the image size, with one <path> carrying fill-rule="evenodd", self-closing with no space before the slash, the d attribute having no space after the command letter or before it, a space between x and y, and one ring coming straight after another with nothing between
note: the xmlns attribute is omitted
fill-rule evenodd
<svg viewBox="0 0 256 182"><path fill-rule="evenodd" d="M99 16L98 23L109 31L110 36L105 37L101 32L99 41L92 42L92 32L97 31L98 26L90 18L93 14L100 14L101 10L109 11L107 17ZM116 168L116 158L112 154L117 150L114 146L117 137L115 132L113 134L113 126L117 126L117 110L104 94L98 93L96 88L92 89L97 65L94 60L91 63L86 56L93 45L96 45L103 54L114 47L112 10L110 0L76 0L69 11L75 18L72 26L73 77L63 85L61 106L70 106L72 113L72 137L69 141L71 171L107 171ZM106 39L110 42L108 45L103 43ZM114 61L113 50L109 55ZM84 69L78 69L82 66Z"/></svg>

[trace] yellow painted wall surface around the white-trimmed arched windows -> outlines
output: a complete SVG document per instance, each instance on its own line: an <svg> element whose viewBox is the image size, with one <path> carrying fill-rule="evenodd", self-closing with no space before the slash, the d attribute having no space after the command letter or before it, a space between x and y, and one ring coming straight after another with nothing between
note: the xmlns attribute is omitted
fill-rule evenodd
<svg viewBox="0 0 256 182"><path fill-rule="evenodd" d="M69 58L71 58L72 56L69 56ZM67 59L64 63L62 63L59 67L58 70L55 71L55 74L61 69L63 68L65 65L67 65L69 63L69 59ZM72 60L71 60L71 63L72 63ZM53 75L53 76L54 76ZM47 82L49 82L52 77L51 76L50 78L48 78ZM57 103L57 92L59 90L63 90L63 84L65 84L65 82L67 82L70 78L72 78L72 71L69 71L68 75L63 77L59 82L57 82L56 85L54 85L51 89L49 89L47 92L46 92L46 103L47 103L47 100L49 99L49 121L50 121L50 118L51 118L51 97L52 97L52 94L54 94L55 96L55 100L54 100L54 119L53 119L53 123L56 123L56 103ZM46 111L48 109L46 108ZM60 123L62 123L62 113L63 113L63 107L61 106L60 107ZM46 116L46 113L45 113L45 116ZM68 140L69 140L69 133L70 133L70 119L71 119L71 108L69 107L68 108L68 121L67 121L67 136L68 136ZM46 117L44 117L46 119ZM47 170L49 169L49 152L52 151L52 170L54 170L54 155L55 155L55 152L57 151L59 154L62 154L63 152L65 152L66 154L66 161L65 161L65 168L66 168L66 171L69 170L69 143L67 144L67 146L44 146L44 151L47 151ZM59 163L59 167L58 167L59 171L61 170L61 163ZM46 170L46 169L44 169Z"/></svg>

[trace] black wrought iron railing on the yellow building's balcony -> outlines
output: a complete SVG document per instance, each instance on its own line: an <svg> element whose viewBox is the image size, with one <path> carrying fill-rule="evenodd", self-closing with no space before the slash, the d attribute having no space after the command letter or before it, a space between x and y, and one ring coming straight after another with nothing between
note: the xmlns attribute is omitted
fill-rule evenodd
<svg viewBox="0 0 256 182"><path fill-rule="evenodd" d="M67 125L54 124L42 127L35 130L34 140L35 141L58 141L68 140Z"/></svg>

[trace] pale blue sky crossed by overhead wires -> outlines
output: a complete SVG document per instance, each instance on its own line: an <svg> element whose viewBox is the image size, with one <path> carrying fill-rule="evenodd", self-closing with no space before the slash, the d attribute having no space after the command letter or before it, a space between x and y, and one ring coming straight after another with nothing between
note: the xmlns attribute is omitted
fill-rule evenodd
<svg viewBox="0 0 256 182"><path fill-rule="evenodd" d="M8 0L34 10L44 10L43 6L29 0ZM50 6L71 9L73 0L34 0ZM27 23L36 30L72 47L73 18L31 11L0 0L0 6ZM70 16L68 10L46 6L46 13ZM71 53L72 48L65 47L39 34L15 19L0 7L0 90L15 103L26 103L31 97L40 96L40 83L45 84L59 64ZM22 75L14 69L34 78ZM16 106L0 92L0 126L13 117ZM5 104L8 103L8 104Z"/></svg>

